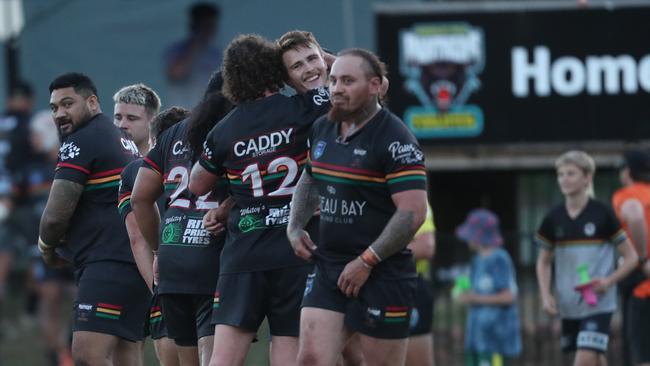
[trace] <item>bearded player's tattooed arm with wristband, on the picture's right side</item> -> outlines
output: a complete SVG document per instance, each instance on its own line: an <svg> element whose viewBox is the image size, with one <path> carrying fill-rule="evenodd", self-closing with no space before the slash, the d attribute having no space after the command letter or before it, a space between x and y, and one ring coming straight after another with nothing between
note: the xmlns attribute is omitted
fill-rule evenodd
<svg viewBox="0 0 650 366"><path fill-rule="evenodd" d="M347 296L356 297L366 283L372 267L409 244L427 215L424 190L408 190L392 195L397 210L379 237L360 256L348 263L338 279L338 287Z"/></svg>

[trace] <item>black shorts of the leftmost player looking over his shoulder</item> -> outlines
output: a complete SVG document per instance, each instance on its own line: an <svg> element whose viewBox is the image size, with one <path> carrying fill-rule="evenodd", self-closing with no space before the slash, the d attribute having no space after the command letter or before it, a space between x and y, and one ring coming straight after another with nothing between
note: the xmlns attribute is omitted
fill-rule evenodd
<svg viewBox="0 0 650 366"><path fill-rule="evenodd" d="M78 273L73 331L111 334L135 342L144 338L151 292L135 264L96 262Z"/></svg>

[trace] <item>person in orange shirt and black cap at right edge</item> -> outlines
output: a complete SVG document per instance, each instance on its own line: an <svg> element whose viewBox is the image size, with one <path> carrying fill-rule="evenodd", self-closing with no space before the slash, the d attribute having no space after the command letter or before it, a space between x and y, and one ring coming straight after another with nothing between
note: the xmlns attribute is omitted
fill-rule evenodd
<svg viewBox="0 0 650 366"><path fill-rule="evenodd" d="M620 285L625 364L650 365L650 153L624 152L620 179L612 205L640 262Z"/></svg>

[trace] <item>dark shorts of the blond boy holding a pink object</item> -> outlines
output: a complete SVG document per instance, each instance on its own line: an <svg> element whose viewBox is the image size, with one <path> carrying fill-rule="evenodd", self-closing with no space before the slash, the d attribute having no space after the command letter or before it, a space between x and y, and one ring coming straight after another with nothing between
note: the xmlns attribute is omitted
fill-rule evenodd
<svg viewBox="0 0 650 366"><path fill-rule="evenodd" d="M612 313L594 314L580 319L562 319L562 352L607 352L611 320Z"/></svg>

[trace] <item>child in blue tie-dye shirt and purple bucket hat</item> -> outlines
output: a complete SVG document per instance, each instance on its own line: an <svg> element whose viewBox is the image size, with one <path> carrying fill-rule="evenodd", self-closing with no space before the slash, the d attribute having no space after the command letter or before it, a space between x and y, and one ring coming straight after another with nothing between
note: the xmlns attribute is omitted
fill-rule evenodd
<svg viewBox="0 0 650 366"><path fill-rule="evenodd" d="M466 365L508 365L521 353L517 280L512 259L501 247L499 218L490 210L470 211L456 236L477 252L471 289L458 296L470 306L465 331Z"/></svg>

